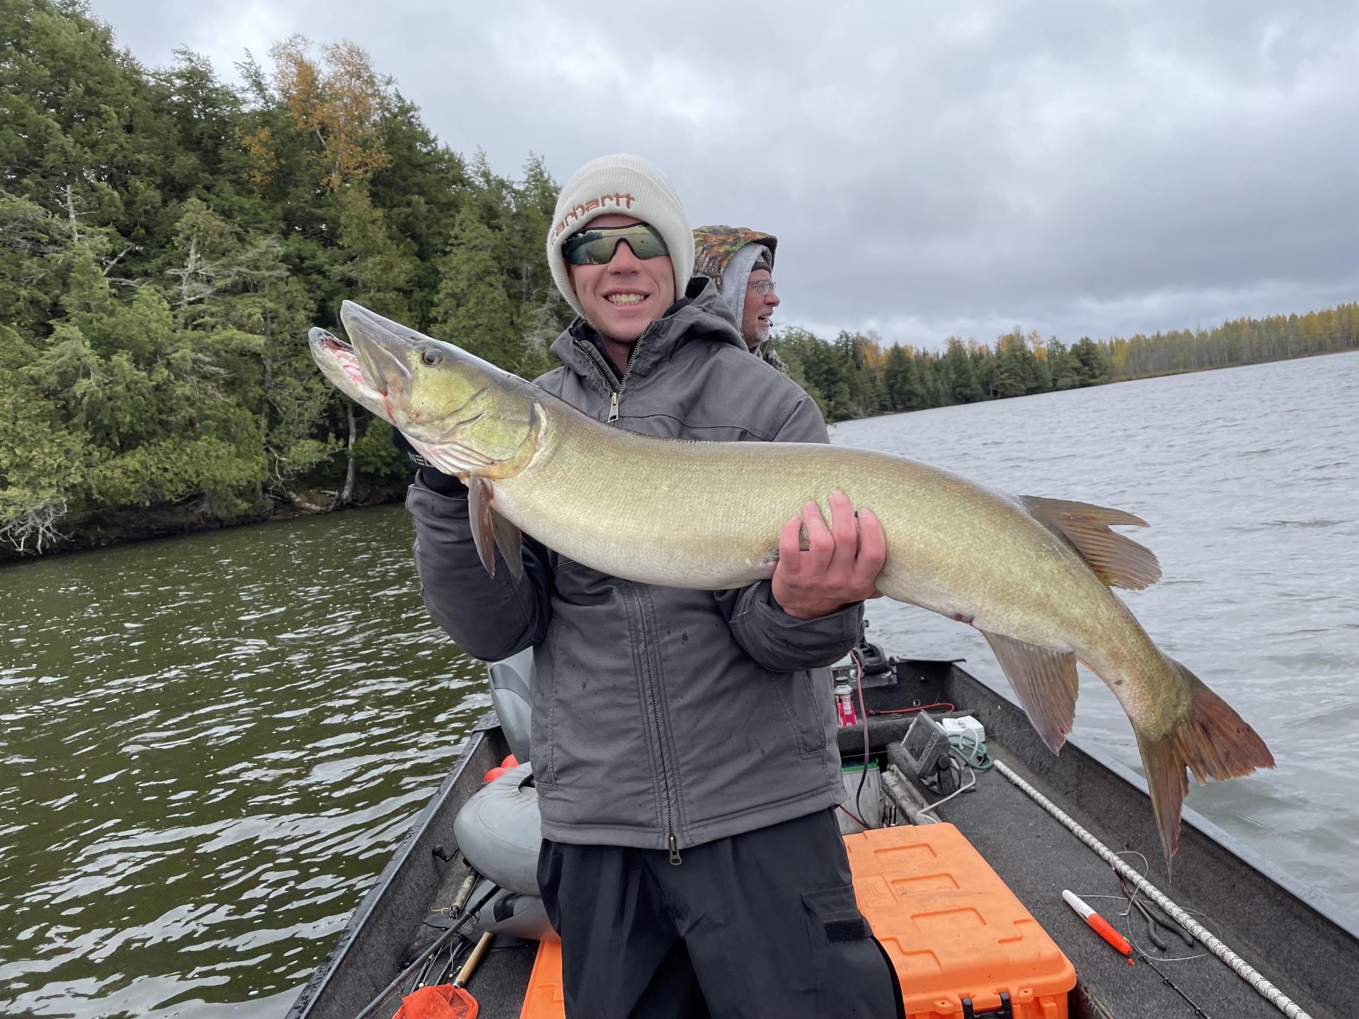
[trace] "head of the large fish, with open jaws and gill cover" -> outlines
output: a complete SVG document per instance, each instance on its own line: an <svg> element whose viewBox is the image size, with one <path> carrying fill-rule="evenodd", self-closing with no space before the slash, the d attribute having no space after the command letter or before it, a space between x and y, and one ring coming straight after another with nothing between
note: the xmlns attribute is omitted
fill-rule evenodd
<svg viewBox="0 0 1359 1019"><path fill-rule="evenodd" d="M308 334L321 371L442 471L504 478L531 459L545 420L534 386L351 300L340 321L349 342L323 329Z"/></svg>

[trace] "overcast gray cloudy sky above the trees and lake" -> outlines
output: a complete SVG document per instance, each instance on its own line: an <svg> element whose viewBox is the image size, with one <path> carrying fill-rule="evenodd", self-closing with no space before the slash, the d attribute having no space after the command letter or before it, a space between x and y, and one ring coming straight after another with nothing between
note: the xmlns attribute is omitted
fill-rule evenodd
<svg viewBox="0 0 1359 1019"><path fill-rule="evenodd" d="M459 152L637 152L779 236L776 325L938 346L1359 299L1359 4L94 0L224 77L352 39Z"/></svg>

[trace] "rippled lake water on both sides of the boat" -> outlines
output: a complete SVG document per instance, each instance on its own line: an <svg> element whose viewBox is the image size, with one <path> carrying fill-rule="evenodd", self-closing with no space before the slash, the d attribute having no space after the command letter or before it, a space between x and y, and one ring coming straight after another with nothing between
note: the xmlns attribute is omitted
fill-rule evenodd
<svg viewBox="0 0 1359 1019"><path fill-rule="evenodd" d="M833 440L1139 514L1124 592L1279 768L1189 806L1359 914L1359 353L845 423ZM0 1014L281 1016L489 705L401 507L0 569ZM896 654L974 630L887 601ZM1137 765L1086 674L1078 743Z"/></svg>

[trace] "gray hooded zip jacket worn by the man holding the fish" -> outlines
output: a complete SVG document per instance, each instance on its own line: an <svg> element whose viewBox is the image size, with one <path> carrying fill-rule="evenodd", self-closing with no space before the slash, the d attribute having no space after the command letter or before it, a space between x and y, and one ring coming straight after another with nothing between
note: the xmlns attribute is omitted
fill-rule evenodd
<svg viewBox="0 0 1359 1019"><path fill-rule="evenodd" d="M633 432L826 442L815 402L746 352L712 284L696 279L689 293L637 341L622 383L583 319L552 346L563 367L537 383L599 420L616 412L617 427ZM841 800L826 666L858 639L862 605L796 620L768 582L733 591L640 584L529 535L523 577L497 569L492 579L466 499L417 482L406 505L434 618L480 659L534 648L545 838L675 855Z"/></svg>

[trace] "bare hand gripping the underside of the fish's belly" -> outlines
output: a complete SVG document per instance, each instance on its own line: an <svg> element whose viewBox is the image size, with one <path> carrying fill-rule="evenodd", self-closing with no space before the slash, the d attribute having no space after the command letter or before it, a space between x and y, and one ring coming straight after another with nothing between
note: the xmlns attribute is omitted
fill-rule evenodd
<svg viewBox="0 0 1359 1019"><path fill-rule="evenodd" d="M830 529L815 503L802 507L779 531L773 599L788 615L815 620L866 598L881 598L875 583L887 558L882 520L871 510L855 519L844 492L830 493ZM802 530L807 549L802 550Z"/></svg>

